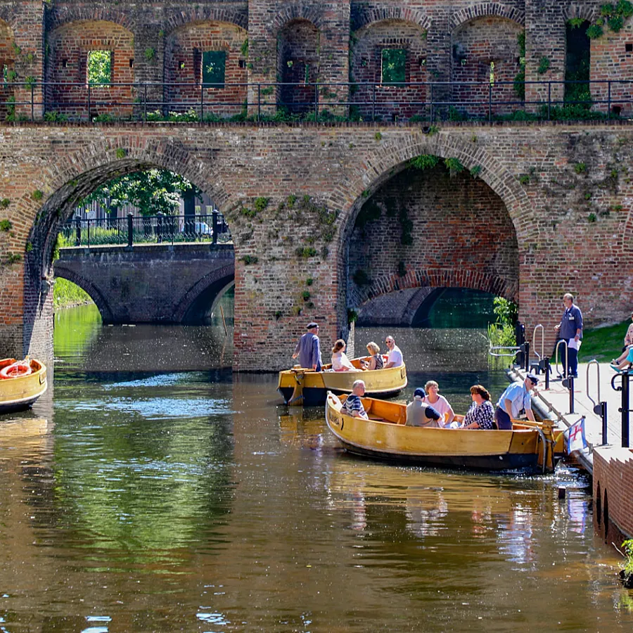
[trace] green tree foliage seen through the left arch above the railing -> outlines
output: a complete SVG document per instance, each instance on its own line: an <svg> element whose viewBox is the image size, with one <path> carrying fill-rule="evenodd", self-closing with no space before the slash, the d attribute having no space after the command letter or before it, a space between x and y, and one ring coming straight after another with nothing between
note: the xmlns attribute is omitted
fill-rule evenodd
<svg viewBox="0 0 633 633"><path fill-rule="evenodd" d="M192 190L200 196L198 188L186 178L165 170L146 170L108 181L77 206L88 206L95 201L106 209L129 204L137 207L141 215L159 212L172 215L179 209L181 196Z"/></svg>

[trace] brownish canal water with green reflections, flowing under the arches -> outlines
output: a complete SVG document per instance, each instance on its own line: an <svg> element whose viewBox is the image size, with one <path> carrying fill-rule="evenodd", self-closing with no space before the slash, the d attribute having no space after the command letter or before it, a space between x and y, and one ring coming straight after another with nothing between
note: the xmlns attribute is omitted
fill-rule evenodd
<svg viewBox="0 0 633 633"><path fill-rule="evenodd" d="M584 475L348 456L275 376L232 376L230 324L58 313L53 389L0 419L0 631L632 629ZM473 383L506 384L482 330L357 345L387 333L407 397L435 378L464 411Z"/></svg>

